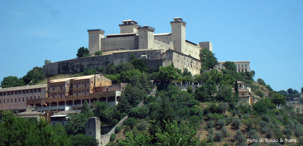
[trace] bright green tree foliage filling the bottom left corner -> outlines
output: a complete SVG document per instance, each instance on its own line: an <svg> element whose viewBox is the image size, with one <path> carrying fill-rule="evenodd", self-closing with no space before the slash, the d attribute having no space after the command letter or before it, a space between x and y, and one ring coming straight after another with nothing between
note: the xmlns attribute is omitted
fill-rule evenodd
<svg viewBox="0 0 303 146"><path fill-rule="evenodd" d="M70 146L62 125L0 111L0 146Z"/></svg>

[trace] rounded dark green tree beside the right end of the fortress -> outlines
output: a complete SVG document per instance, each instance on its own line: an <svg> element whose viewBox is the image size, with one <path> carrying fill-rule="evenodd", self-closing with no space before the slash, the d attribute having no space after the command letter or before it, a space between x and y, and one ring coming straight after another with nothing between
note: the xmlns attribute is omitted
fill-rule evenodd
<svg viewBox="0 0 303 146"><path fill-rule="evenodd" d="M211 51L207 49L201 50L199 56L201 60L201 69L203 71L213 69L218 64L215 54L213 54Z"/></svg>

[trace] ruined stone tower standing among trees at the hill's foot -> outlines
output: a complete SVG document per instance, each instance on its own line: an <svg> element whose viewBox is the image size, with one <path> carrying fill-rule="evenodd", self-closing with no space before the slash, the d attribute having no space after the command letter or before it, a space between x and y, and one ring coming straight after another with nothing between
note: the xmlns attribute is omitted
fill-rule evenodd
<svg viewBox="0 0 303 146"><path fill-rule="evenodd" d="M85 125L85 135L92 136L101 143L101 123L97 117L91 117L88 119Z"/></svg>

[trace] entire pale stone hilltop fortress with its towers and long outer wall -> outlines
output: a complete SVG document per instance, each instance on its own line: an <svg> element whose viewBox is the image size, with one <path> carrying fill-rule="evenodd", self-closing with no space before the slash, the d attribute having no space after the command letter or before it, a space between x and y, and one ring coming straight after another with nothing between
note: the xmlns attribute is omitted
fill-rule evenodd
<svg viewBox="0 0 303 146"><path fill-rule="evenodd" d="M186 22L182 18L170 21L170 33L154 33L150 26L140 26L134 20L122 21L120 34L104 35L101 29L89 29L89 52L94 55L102 51L102 56L91 56L72 60L48 63L43 66L46 74L79 73L84 70L105 67L108 63L115 65L130 62L130 56L144 59L149 68L156 69L173 63L180 70L188 69L193 74L200 73L200 51L212 51L211 42L195 44L186 40Z"/></svg>

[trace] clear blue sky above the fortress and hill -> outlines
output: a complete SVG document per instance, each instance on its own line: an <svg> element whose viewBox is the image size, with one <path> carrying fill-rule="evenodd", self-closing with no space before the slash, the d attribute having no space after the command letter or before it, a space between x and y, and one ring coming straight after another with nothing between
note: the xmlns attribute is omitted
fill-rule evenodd
<svg viewBox="0 0 303 146"><path fill-rule="evenodd" d="M76 58L88 47L87 29L120 33L133 19L171 32L181 17L186 39L210 41L218 61L250 61L255 80L274 90L303 87L302 0L1 0L0 80L33 67Z"/></svg>

